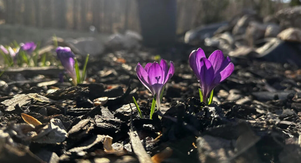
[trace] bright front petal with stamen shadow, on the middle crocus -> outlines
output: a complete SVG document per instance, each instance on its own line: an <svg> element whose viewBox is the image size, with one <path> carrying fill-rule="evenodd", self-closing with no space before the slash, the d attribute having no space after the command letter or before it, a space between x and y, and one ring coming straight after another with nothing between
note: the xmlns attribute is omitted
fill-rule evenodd
<svg viewBox="0 0 301 163"><path fill-rule="evenodd" d="M154 62L147 71L148 77L151 82L151 86L155 94L160 94L160 90L163 88L164 83L164 72L160 64Z"/></svg>

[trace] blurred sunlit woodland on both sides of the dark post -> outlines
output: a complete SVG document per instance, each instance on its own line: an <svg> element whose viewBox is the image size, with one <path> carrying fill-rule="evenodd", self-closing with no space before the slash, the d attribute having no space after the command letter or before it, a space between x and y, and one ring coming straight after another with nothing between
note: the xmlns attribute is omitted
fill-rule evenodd
<svg viewBox="0 0 301 163"><path fill-rule="evenodd" d="M136 0L2 1L7 24L85 31L93 25L99 32L106 33L127 29L140 31ZM225 20L240 12L239 4L246 2L252 5L253 1L177 0L177 33L208 23L212 19Z"/></svg>

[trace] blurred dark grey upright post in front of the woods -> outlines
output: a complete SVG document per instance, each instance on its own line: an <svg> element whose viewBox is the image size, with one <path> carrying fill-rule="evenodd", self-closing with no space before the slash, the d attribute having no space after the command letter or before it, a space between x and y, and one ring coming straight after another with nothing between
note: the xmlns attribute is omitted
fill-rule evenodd
<svg viewBox="0 0 301 163"><path fill-rule="evenodd" d="M146 46L174 44L176 7L176 0L138 0L141 34Z"/></svg>

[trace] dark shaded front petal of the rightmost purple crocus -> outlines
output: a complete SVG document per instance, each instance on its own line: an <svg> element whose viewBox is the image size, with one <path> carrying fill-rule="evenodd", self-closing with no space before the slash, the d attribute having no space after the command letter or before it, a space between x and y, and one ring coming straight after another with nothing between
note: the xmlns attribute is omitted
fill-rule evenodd
<svg viewBox="0 0 301 163"><path fill-rule="evenodd" d="M206 99L211 91L210 89L214 79L214 69L211 62L206 58L200 60L200 79L203 98Z"/></svg>

